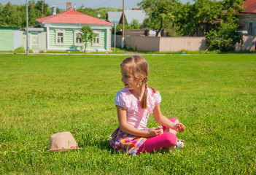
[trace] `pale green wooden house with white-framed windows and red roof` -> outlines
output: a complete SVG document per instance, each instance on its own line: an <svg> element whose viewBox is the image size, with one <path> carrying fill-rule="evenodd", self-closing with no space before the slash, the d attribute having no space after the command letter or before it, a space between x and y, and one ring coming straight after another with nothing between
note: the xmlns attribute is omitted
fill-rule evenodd
<svg viewBox="0 0 256 175"><path fill-rule="evenodd" d="M45 50L84 50L85 45L80 39L82 26L90 26L96 34L93 43L88 44L87 51L111 50L112 23L105 20L68 9L65 12L36 19L36 21L39 23L37 28L44 28L44 30L40 32L38 29L36 31L35 27L29 28L32 50L36 50L36 44L38 44L39 50L40 48ZM42 39L42 36L45 39Z"/></svg>

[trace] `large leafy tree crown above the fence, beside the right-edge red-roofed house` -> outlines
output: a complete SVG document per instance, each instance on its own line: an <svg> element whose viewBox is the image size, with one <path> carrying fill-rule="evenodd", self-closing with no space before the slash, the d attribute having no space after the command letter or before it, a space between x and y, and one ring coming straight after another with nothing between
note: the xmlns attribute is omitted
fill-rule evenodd
<svg viewBox="0 0 256 175"><path fill-rule="evenodd" d="M177 8L175 25L183 36L204 35L218 28L220 23L237 25L236 15L243 9L241 4L243 0L195 0L194 4L187 3Z"/></svg>

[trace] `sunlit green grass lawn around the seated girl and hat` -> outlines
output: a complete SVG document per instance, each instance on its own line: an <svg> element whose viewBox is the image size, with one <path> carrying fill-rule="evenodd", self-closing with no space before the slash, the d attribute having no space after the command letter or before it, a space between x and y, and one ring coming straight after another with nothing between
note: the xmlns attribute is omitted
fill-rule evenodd
<svg viewBox="0 0 256 175"><path fill-rule="evenodd" d="M0 174L256 174L256 55L145 55L163 114L187 126L186 146L136 156L107 140L123 58L0 55ZM61 131L81 149L47 151Z"/></svg>

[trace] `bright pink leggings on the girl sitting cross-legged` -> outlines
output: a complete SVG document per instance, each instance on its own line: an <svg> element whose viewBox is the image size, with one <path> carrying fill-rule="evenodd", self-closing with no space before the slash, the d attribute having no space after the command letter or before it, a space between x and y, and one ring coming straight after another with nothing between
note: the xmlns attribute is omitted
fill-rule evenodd
<svg viewBox="0 0 256 175"><path fill-rule="evenodd" d="M177 118L171 117L169 119L171 122L175 122ZM163 126L163 131L166 130L166 127ZM176 144L177 142L177 136L174 133L163 133L159 136L150 137L150 139L147 139L147 141L144 142L144 144L139 147L139 150L137 151L137 155L139 153L145 153L145 152L153 152L154 150L161 149L163 147L171 147L172 145Z"/></svg>

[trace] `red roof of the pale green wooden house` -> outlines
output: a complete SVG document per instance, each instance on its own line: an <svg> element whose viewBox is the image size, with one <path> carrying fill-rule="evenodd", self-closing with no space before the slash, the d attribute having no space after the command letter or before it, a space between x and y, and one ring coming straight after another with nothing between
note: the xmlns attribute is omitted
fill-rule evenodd
<svg viewBox="0 0 256 175"><path fill-rule="evenodd" d="M100 20L89 15L85 15L82 12L77 12L74 9L68 9L65 12L60 12L56 15L50 15L44 18L36 19L39 23L77 23L77 24L96 24L96 25L107 25L109 23L105 20Z"/></svg>

